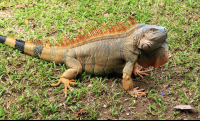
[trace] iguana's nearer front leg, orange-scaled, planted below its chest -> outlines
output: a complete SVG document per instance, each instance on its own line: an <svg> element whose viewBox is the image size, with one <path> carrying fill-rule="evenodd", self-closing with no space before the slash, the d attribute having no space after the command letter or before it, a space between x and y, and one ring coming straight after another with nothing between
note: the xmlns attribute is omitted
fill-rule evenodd
<svg viewBox="0 0 200 121"><path fill-rule="evenodd" d="M136 88L133 87L133 81L131 78L133 67L134 67L134 64L132 62L127 62L125 64L125 67L123 69L123 77L122 77L123 87L128 93L133 94L134 97L145 96L147 92L144 92L144 89L138 90L139 87L136 87Z"/></svg>

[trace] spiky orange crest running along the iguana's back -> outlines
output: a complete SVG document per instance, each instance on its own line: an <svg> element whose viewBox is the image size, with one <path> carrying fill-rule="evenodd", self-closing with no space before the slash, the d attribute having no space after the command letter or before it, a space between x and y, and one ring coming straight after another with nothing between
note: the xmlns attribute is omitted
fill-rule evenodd
<svg viewBox="0 0 200 121"><path fill-rule="evenodd" d="M117 22L116 25L110 24L110 27L108 25L101 25L100 27L95 26L89 32L86 32L84 29L82 29L82 32L84 34L81 34L81 33L77 34L74 37L75 39L69 39L65 37L64 41L60 41L60 44L57 43L56 45L53 45L49 42L49 40L46 40L46 42L37 40L36 42L34 42L34 44L43 45L44 47L46 46L67 47L81 41L89 41L90 39L95 38L95 37L109 36L110 34L125 32L136 23L137 22L134 18L129 17L127 22L125 23Z"/></svg>

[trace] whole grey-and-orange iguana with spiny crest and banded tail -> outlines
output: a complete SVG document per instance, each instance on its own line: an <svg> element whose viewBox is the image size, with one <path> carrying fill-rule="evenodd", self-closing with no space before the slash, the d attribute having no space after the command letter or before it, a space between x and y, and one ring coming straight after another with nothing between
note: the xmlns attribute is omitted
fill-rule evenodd
<svg viewBox="0 0 200 121"><path fill-rule="evenodd" d="M129 18L127 24L107 29L94 30L77 35L71 43L49 46L0 36L0 43L20 49L23 53L39 57L56 64L65 63L67 70L57 84L65 86L65 97L69 84L76 84L74 78L85 71L93 75L106 75L122 71L124 89L134 96L146 95L133 87L132 73L147 75L136 68L136 62L144 68L159 67L168 61L167 29L161 26L138 24Z"/></svg>

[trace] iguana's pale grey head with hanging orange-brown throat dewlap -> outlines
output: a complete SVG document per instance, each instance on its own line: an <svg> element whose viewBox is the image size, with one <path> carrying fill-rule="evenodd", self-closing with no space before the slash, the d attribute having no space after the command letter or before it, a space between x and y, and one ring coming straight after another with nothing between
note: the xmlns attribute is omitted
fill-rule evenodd
<svg viewBox="0 0 200 121"><path fill-rule="evenodd" d="M141 55L138 64L147 68L155 68L165 64L168 58L168 36L167 29L161 26L145 25L142 27L142 34L138 41L138 48Z"/></svg>

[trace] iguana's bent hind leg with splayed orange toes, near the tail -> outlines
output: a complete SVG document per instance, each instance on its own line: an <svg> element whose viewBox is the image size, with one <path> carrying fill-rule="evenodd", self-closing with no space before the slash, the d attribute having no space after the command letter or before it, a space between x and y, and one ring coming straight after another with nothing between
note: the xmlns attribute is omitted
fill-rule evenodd
<svg viewBox="0 0 200 121"><path fill-rule="evenodd" d="M65 89L65 97L67 97L67 88L69 88L69 90L71 91L71 87L69 84L77 84L74 81L74 78L82 73L82 66L80 64L80 62L78 60L76 60L75 58L71 58L68 57L66 59L66 66L67 66L67 70L62 74L62 76L60 77L60 80L57 84L52 84L51 86L59 86L61 83L64 84Z"/></svg>

